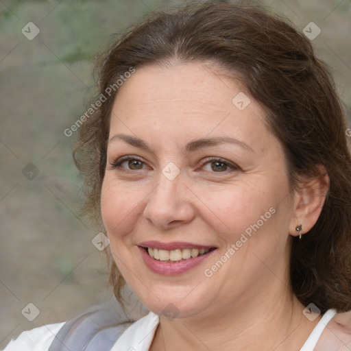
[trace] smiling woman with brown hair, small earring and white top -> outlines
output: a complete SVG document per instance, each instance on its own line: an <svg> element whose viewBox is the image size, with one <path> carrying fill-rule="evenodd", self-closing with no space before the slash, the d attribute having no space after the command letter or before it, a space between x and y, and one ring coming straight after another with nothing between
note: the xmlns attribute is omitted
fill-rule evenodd
<svg viewBox="0 0 351 351"><path fill-rule="evenodd" d="M118 317L98 307L92 349L350 350L347 126L308 38L257 6L189 5L98 66L75 162L115 295L151 312L107 345ZM90 350L89 313L5 350Z"/></svg>

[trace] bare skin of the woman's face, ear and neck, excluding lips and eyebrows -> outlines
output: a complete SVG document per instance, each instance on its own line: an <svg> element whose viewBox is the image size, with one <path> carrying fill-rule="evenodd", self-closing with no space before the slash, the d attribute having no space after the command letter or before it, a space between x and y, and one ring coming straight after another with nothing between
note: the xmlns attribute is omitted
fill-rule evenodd
<svg viewBox="0 0 351 351"><path fill-rule="evenodd" d="M150 350L300 350L321 317L310 322L302 314L288 267L295 227L302 223L303 234L317 221L328 175L289 191L285 155L265 125L263 107L250 97L239 110L232 99L240 92L250 97L213 62L171 62L136 69L114 101L101 214L121 274L160 315ZM116 134L137 136L151 151L111 140ZM184 152L190 141L223 136L248 147L223 143ZM128 155L142 162L113 167ZM174 180L162 174L169 162L180 169ZM205 269L269 208L274 215L206 277ZM184 274L162 276L141 258L138 245L148 240L217 250ZM169 304L177 308L175 319L162 315Z"/></svg>

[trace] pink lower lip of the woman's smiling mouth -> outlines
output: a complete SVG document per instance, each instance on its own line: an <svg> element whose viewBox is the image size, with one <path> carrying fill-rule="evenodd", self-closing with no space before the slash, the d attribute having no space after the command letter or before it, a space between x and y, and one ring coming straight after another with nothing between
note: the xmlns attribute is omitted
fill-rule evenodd
<svg viewBox="0 0 351 351"><path fill-rule="evenodd" d="M195 258L188 258L187 260L180 262L167 262L167 261L158 261L155 258L152 258L143 247L138 247L141 250L141 256L147 267L158 274L163 274L165 276L175 276L176 274L182 274L190 269L200 265L208 257L210 257L215 250L211 250L206 254L197 256Z"/></svg>

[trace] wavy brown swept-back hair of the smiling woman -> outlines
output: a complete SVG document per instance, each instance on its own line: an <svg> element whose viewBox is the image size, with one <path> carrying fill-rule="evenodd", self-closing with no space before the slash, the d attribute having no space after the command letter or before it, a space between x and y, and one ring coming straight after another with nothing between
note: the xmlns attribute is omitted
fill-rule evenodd
<svg viewBox="0 0 351 351"><path fill-rule="evenodd" d="M291 288L324 313L351 309L351 156L346 118L328 68L304 34L258 5L217 1L154 12L119 36L97 61L99 93L133 67L215 62L245 82L265 107L267 124L285 151L291 189L299 175L324 165L330 190L322 213L291 247ZM73 158L85 184L84 209L100 226L113 92L78 134ZM95 99L97 99L95 97ZM102 227L101 227L102 228ZM110 283L121 298L123 277L110 260Z"/></svg>

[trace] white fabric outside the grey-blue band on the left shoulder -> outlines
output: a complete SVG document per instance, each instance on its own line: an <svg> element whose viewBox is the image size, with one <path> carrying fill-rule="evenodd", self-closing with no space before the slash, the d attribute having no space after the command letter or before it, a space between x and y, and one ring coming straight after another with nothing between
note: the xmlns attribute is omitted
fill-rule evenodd
<svg viewBox="0 0 351 351"><path fill-rule="evenodd" d="M22 332L17 339L8 343L3 351L47 351L63 323L47 324Z"/></svg>

